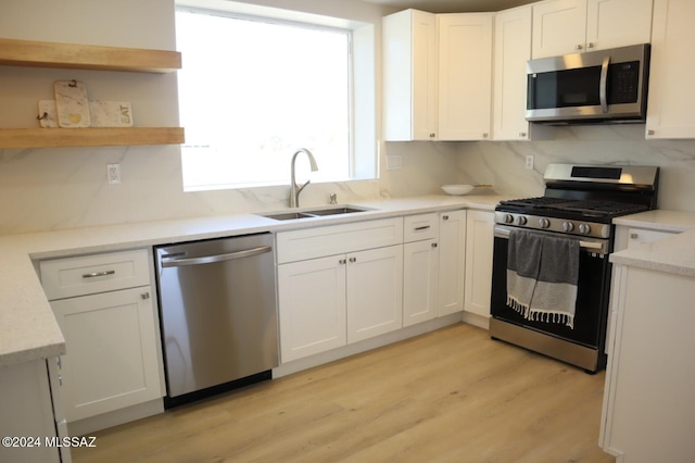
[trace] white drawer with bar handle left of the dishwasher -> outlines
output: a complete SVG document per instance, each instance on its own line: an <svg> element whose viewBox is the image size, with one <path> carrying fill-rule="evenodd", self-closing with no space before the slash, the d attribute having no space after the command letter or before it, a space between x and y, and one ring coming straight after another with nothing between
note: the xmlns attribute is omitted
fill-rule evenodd
<svg viewBox="0 0 695 463"><path fill-rule="evenodd" d="M146 249L41 261L39 268L49 300L150 284Z"/></svg>

